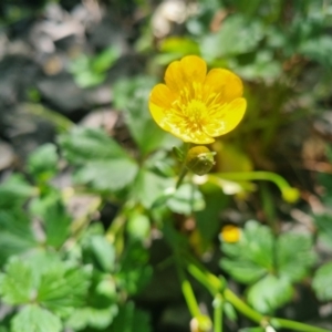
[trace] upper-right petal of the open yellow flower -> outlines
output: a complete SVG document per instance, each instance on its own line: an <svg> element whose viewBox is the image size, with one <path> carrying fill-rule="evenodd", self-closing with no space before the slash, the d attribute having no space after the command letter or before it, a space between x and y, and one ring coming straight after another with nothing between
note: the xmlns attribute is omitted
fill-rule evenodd
<svg viewBox="0 0 332 332"><path fill-rule="evenodd" d="M232 72L224 69L212 69L208 72L204 82L204 98L208 101L209 96L217 93L215 100L217 103L230 103L232 100L242 95L242 82Z"/></svg>

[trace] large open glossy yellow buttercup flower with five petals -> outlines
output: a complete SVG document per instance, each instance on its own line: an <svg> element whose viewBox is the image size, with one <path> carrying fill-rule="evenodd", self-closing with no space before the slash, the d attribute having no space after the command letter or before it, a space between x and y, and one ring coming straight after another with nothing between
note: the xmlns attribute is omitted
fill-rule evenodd
<svg viewBox="0 0 332 332"><path fill-rule="evenodd" d="M245 115L242 82L232 72L212 69L188 55L169 64L165 83L149 96L155 122L184 142L209 144L232 131Z"/></svg>

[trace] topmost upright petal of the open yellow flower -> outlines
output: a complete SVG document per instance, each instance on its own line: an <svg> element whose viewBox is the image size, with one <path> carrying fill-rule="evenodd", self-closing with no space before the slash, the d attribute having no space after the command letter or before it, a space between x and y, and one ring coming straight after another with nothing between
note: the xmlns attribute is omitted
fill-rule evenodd
<svg viewBox="0 0 332 332"><path fill-rule="evenodd" d="M172 62L165 73L166 85L174 93L191 86L193 82L203 83L206 76L206 62L196 55L188 55Z"/></svg>

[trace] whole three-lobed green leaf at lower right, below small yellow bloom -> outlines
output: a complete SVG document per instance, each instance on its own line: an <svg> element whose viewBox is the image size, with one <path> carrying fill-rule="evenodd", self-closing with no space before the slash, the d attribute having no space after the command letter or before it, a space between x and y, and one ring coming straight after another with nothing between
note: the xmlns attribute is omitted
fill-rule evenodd
<svg viewBox="0 0 332 332"><path fill-rule="evenodd" d="M292 243L292 246L289 246ZM300 234L281 234L257 221L248 221L236 243L221 243L227 258L221 267L236 280L251 284L248 301L258 311L271 313L287 303L292 284L308 276L315 262L312 238Z"/></svg>

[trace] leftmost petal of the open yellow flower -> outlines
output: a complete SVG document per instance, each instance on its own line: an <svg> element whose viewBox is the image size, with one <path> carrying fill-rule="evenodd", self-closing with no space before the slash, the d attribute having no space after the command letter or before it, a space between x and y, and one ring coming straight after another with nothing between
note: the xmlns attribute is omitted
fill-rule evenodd
<svg viewBox="0 0 332 332"><path fill-rule="evenodd" d="M148 108L154 121L165 131L169 131L166 115L172 107L174 95L165 84L157 84L151 92Z"/></svg>

